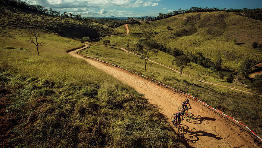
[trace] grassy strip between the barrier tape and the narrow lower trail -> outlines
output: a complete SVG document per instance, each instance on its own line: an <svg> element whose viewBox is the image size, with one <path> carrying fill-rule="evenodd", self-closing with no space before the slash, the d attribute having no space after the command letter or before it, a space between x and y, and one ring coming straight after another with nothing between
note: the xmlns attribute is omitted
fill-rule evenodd
<svg viewBox="0 0 262 148"><path fill-rule="evenodd" d="M168 86L187 92L212 107L218 108L240 120L257 134L262 135L260 128L262 127L262 106L260 101L256 101L257 99L262 99L261 97L199 83L195 79L189 79L188 77L179 77L178 73L150 61L147 64L147 71L144 71L144 61L138 56L115 48L91 46L86 50L81 50L80 53L136 71ZM251 108L252 110L250 110Z"/></svg>

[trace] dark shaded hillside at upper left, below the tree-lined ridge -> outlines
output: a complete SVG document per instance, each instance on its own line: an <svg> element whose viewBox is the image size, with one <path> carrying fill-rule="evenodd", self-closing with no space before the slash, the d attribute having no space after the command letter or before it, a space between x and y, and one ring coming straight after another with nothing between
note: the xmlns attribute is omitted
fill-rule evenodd
<svg viewBox="0 0 262 148"><path fill-rule="evenodd" d="M0 29L42 29L54 32L63 37L80 38L88 36L98 38L101 36L120 34L117 30L98 24L83 22L74 19L48 16L23 9L0 5ZM8 24L8 25L7 25ZM4 31L1 34L5 34Z"/></svg>

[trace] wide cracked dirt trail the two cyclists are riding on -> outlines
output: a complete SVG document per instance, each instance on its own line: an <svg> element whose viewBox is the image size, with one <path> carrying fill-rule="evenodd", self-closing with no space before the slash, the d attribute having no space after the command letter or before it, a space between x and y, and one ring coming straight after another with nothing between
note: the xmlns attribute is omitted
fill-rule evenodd
<svg viewBox="0 0 262 148"><path fill-rule="evenodd" d="M86 48L86 45L83 48ZM79 51L80 48L76 51ZM181 122L185 130L185 144L188 147L258 147L254 138L247 131L235 125L230 120L214 112L213 110L199 104L192 98L188 98L177 92L165 88L164 86L150 82L136 74L132 74L120 68L106 65L95 59L86 59L76 51L69 52L70 55L86 60L95 68L101 69L114 76L118 80L136 89L136 91L145 94L145 98L151 104L157 105L168 120L173 113L177 112L177 107L185 101L190 100L193 116L190 122L185 120ZM170 123L171 124L171 123ZM172 125L173 126L173 125ZM174 128L177 131L176 128Z"/></svg>

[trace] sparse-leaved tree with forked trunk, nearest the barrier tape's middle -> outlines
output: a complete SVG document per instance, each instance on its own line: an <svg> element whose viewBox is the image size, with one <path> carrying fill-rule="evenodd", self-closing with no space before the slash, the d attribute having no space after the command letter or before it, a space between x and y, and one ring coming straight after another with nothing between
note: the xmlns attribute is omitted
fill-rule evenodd
<svg viewBox="0 0 262 148"><path fill-rule="evenodd" d="M158 53L158 43L152 39L139 39L135 44L136 52L141 54L140 58L145 60L145 70L148 59Z"/></svg>

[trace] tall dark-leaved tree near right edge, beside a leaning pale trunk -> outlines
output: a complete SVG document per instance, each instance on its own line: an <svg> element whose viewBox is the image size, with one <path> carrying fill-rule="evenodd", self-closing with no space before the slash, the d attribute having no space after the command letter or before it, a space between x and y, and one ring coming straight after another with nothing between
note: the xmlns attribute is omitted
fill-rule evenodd
<svg viewBox="0 0 262 148"><path fill-rule="evenodd" d="M246 58L244 62L242 62L239 66L238 73L243 77L242 84L245 83L245 77L249 76L250 74L250 68L254 66L255 61L253 59Z"/></svg>

